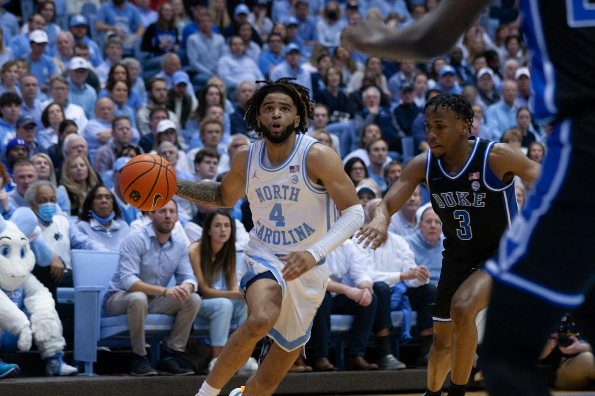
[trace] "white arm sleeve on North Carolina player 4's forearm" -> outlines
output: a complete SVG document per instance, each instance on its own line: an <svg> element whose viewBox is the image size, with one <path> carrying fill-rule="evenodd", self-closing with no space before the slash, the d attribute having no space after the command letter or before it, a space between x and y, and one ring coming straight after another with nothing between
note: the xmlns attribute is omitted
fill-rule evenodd
<svg viewBox="0 0 595 396"><path fill-rule="evenodd" d="M341 217L332 225L324 237L306 249L319 262L328 253L340 246L364 224L364 209L361 205L353 205L341 212Z"/></svg>

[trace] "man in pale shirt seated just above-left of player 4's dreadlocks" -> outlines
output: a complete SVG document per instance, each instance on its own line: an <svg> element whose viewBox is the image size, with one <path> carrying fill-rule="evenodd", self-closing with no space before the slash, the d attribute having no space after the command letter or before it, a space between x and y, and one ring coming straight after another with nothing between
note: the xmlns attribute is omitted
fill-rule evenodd
<svg viewBox="0 0 595 396"><path fill-rule="evenodd" d="M246 55L242 37L231 37L229 48L230 54L221 56L217 62L217 76L221 77L228 89L236 89L243 81L264 80L254 59Z"/></svg>

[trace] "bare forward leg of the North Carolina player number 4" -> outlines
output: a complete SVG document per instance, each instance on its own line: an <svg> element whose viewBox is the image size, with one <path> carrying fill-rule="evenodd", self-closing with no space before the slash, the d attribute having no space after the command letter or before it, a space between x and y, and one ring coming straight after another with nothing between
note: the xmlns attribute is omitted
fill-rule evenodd
<svg viewBox="0 0 595 396"><path fill-rule="evenodd" d="M265 274L267 273L265 272ZM281 286L277 281L266 278L265 274L258 275L250 281L246 291L248 318L231 334L215 366L206 377L206 384L210 388L223 388L237 370L246 363L256 347L256 342L262 340L277 322L281 311ZM297 355L293 357L293 362L296 357ZM283 372L283 375L287 370ZM211 396L211 393L201 388L198 394Z"/></svg>

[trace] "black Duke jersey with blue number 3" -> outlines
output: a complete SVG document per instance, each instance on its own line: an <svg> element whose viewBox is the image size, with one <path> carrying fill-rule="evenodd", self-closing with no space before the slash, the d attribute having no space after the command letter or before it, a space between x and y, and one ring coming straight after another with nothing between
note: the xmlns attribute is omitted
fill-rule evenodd
<svg viewBox="0 0 595 396"><path fill-rule="evenodd" d="M446 172L429 150L425 165L432 208L442 221L443 256L464 266L493 254L518 212L514 179L504 184L488 166L495 143L470 140L475 142L473 150L456 175Z"/></svg>

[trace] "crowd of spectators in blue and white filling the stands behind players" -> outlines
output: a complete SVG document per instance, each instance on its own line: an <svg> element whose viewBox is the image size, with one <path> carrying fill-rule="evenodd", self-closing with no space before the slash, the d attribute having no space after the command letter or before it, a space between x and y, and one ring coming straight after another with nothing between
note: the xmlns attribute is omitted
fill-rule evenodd
<svg viewBox="0 0 595 396"><path fill-rule="evenodd" d="M253 228L248 202L220 210L176 196L141 212L124 200L120 172L130 158L155 153L181 179L221 180L236 150L259 138L244 106L265 78L292 77L310 90L308 135L343 159L366 221L402 172L403 142L411 142L403 138L412 137L414 153L428 150L423 108L441 92L473 104L470 136L541 162L552 127L533 119L531 57L509 2L497 1L451 51L428 62L341 45L347 26L375 19L405 29L437 2L45 0L23 15L19 2L0 0L0 207L7 219L21 206L39 216L55 259L36 267L37 278L55 297L57 287L73 285L71 249L121 252L104 310L129 314L132 372L192 373L170 358L184 351L197 315L211 322L210 370L231 320L246 319L236 252ZM516 185L523 206L528 186ZM394 310L403 312L400 342L418 337L418 364L427 364L443 238L428 202L421 185L393 215L380 249L347 240L327 257L328 291L312 326L315 370L334 369L333 313L356 316L348 369L405 367L389 347ZM167 288L172 275L177 286ZM158 367L146 359L147 313L177 315ZM67 332L72 318L61 315ZM378 353L369 363L371 334ZM292 367L311 369L302 357ZM255 361L243 370L255 370Z"/></svg>

